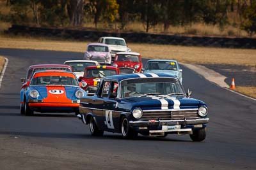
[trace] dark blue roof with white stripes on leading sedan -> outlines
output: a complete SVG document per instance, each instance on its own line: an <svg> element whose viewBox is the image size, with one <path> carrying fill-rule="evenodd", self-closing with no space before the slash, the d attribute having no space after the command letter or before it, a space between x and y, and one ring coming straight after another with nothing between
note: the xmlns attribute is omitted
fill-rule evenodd
<svg viewBox="0 0 256 170"><path fill-rule="evenodd" d="M108 76L105 79L115 79L117 81L122 81L126 79L133 79L133 78L157 78L157 77L168 77L168 78L176 78L176 76L172 76L170 74L165 73L133 73L133 74L118 74L114 76Z"/></svg>

